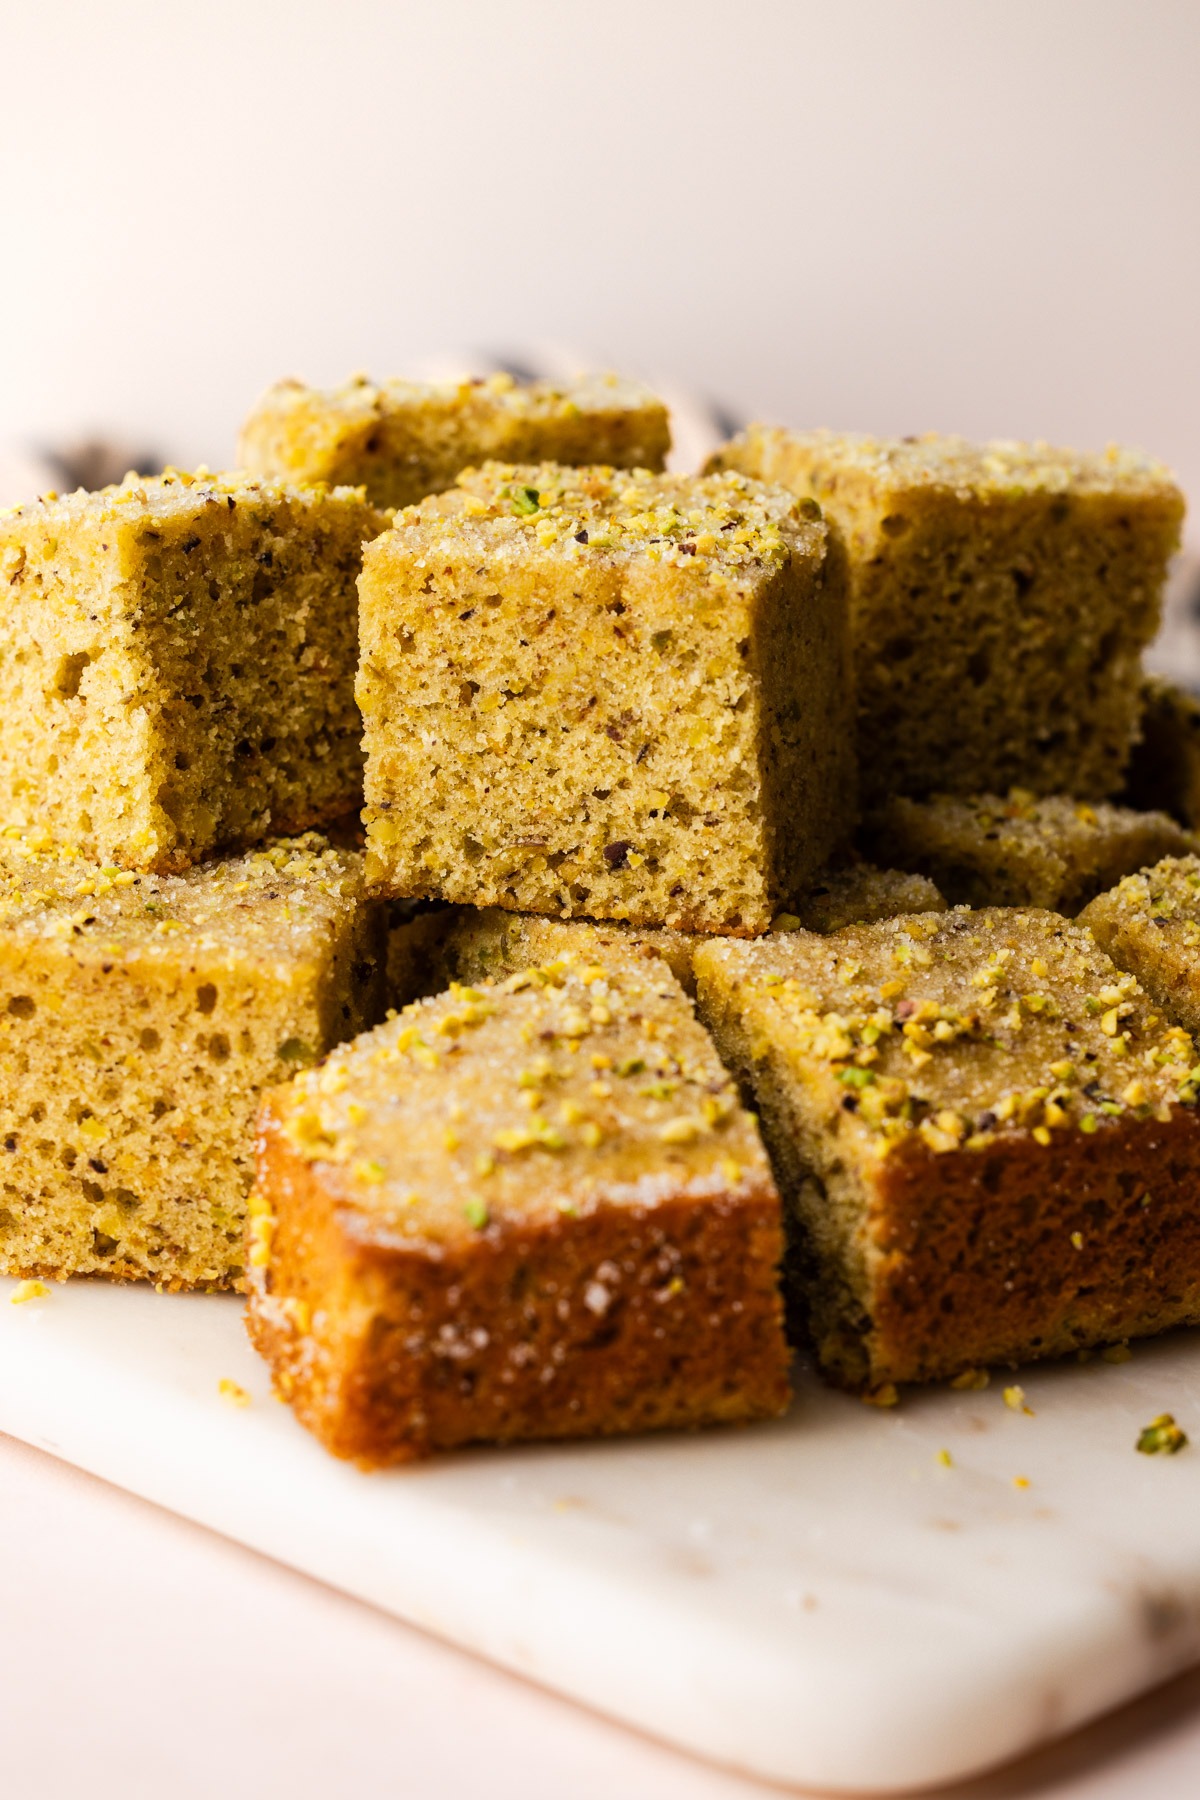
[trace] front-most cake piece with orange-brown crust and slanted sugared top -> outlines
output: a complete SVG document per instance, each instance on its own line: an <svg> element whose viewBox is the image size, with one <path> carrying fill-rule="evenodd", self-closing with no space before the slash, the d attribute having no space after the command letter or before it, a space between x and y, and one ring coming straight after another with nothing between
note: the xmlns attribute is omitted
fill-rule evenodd
<svg viewBox="0 0 1200 1800"><path fill-rule="evenodd" d="M273 1089L250 1336L338 1456L770 1417L779 1197L664 963L419 1001Z"/></svg>

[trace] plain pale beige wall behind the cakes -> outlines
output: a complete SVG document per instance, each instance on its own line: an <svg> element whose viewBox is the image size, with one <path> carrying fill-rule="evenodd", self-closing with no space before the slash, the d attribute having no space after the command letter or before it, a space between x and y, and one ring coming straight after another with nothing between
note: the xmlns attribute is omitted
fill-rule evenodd
<svg viewBox="0 0 1200 1800"><path fill-rule="evenodd" d="M1189 0L0 0L0 441L531 338L1200 513Z"/></svg>

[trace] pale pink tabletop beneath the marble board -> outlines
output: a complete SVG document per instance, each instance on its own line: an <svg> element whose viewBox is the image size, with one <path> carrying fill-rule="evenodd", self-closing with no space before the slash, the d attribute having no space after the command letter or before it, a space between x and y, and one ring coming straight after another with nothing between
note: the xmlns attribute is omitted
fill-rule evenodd
<svg viewBox="0 0 1200 1800"><path fill-rule="evenodd" d="M783 1793L612 1724L4 1435L0 1593L5 1800ZM941 1787L937 1800L1196 1793L1200 1670L995 1775Z"/></svg>

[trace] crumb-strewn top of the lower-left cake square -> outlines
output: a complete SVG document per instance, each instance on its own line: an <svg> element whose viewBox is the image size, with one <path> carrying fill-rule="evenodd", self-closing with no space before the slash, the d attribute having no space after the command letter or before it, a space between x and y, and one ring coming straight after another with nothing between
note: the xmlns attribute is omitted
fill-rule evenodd
<svg viewBox="0 0 1200 1800"><path fill-rule="evenodd" d="M362 855L317 832L184 875L99 868L49 832L0 833L0 947L18 952L45 943L88 963L295 965L362 896Z"/></svg>

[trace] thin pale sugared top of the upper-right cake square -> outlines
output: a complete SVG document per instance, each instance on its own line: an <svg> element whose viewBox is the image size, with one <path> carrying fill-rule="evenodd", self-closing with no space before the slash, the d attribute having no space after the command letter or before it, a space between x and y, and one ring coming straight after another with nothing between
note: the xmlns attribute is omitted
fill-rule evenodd
<svg viewBox="0 0 1200 1800"><path fill-rule="evenodd" d="M1060 450L1047 443L966 437L923 432L918 437L869 437L864 432L790 432L750 425L734 445L774 446L810 463L813 479L853 472L880 488L954 488L984 497L1018 493L1096 491L1132 493L1175 490L1171 470L1144 455L1108 445L1105 450ZM718 459L721 452L716 452Z"/></svg>

